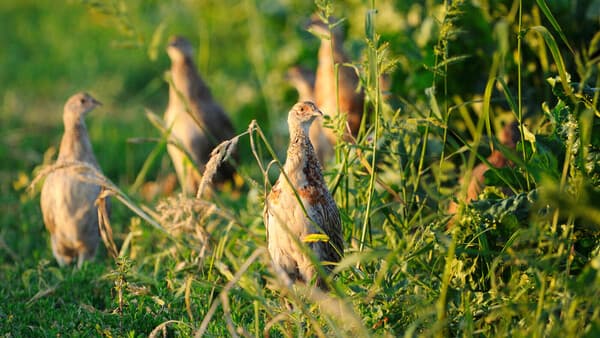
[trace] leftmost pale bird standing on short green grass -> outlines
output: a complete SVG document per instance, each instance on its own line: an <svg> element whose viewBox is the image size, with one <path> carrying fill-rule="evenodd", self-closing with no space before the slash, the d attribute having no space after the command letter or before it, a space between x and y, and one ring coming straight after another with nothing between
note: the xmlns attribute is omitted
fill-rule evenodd
<svg viewBox="0 0 600 338"><path fill-rule="evenodd" d="M101 172L84 120L99 105L99 101L83 92L67 100L57 164L82 162ZM76 261L80 268L84 261L95 257L100 242L95 202L102 187L85 181L86 174L83 175L72 167L59 168L48 174L42 186L40 205L44 224L60 266Z"/></svg>

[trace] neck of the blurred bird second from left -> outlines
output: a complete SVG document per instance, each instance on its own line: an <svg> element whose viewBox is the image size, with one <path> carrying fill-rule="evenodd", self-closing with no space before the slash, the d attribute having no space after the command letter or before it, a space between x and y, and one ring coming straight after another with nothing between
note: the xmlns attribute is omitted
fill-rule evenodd
<svg viewBox="0 0 600 338"><path fill-rule="evenodd" d="M172 85L169 86L169 100L180 100L179 95L188 98L194 95L200 99L210 99L212 94L198 74L194 61L189 57L173 61L171 65Z"/></svg>

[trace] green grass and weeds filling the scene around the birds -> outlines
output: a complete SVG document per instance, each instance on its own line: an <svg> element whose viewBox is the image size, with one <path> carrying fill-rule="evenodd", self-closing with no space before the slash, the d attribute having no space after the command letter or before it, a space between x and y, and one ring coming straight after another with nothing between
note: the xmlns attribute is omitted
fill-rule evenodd
<svg viewBox="0 0 600 338"><path fill-rule="evenodd" d="M0 334L600 335L592 4L2 2ZM326 171L346 242L327 294L277 283L262 221L296 99L283 74L316 66L318 41L302 27L318 10L345 20L373 112ZM173 171L147 112L166 106L163 46L174 33L199 47L200 72L248 131L240 191L143 195ZM76 270L55 263L25 188L52 162L62 105L81 89L104 102L87 123L121 200L111 217L119 257L101 249ZM510 150L494 140L513 119L523 136ZM488 171L464 203L460 178L493 149L514 167Z"/></svg>

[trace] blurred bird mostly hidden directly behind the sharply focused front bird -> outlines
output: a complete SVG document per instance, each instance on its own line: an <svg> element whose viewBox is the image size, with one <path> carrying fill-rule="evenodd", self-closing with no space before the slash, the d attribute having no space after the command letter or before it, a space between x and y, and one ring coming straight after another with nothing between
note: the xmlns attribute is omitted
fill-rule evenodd
<svg viewBox="0 0 600 338"><path fill-rule="evenodd" d="M315 100L315 74L299 66L290 67L287 71L287 80L298 92L298 102ZM323 131L323 124L315 122L310 127L310 142L315 148L321 166L333 157L333 147Z"/></svg>

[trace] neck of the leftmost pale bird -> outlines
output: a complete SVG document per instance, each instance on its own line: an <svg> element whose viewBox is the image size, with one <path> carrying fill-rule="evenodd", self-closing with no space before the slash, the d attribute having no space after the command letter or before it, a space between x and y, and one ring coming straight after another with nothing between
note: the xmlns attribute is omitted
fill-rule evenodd
<svg viewBox="0 0 600 338"><path fill-rule="evenodd" d="M58 151L59 161L81 161L98 166L85 122L65 120L65 133Z"/></svg>

